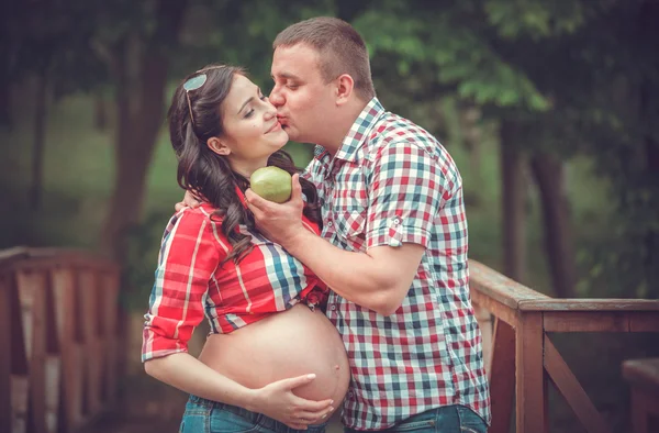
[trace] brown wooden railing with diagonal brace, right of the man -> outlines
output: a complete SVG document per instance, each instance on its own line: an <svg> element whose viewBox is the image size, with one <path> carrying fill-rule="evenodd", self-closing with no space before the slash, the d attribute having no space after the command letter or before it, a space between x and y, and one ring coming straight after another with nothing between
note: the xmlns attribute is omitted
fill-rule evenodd
<svg viewBox="0 0 659 433"><path fill-rule="evenodd" d="M478 262L469 268L491 387L489 431L509 433L515 400L517 433L548 432L551 381L589 433L611 432L547 333L659 332L659 301L554 299Z"/></svg>

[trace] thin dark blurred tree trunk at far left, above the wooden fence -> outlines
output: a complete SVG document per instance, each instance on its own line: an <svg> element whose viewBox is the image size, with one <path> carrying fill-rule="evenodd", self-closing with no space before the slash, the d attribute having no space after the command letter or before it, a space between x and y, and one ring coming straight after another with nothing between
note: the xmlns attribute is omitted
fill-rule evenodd
<svg viewBox="0 0 659 433"><path fill-rule="evenodd" d="M46 142L46 121L48 106L48 77L43 70L36 78L34 113L34 142L32 146L32 181L30 185L29 207L37 211L42 206L44 182L44 151Z"/></svg>

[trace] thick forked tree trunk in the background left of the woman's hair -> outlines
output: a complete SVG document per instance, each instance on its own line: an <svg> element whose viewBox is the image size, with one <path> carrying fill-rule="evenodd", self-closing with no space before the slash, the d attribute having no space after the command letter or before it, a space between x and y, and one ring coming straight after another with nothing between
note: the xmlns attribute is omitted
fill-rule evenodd
<svg viewBox="0 0 659 433"><path fill-rule="evenodd" d="M127 73L127 41L118 47L114 67L118 75L116 178L102 249L120 264L126 256L127 230L142 214L147 168L164 120L169 57L159 46L176 43L186 5L186 1L161 0L158 3L159 27L138 59L137 100L132 100L134 93L129 92L133 86Z"/></svg>

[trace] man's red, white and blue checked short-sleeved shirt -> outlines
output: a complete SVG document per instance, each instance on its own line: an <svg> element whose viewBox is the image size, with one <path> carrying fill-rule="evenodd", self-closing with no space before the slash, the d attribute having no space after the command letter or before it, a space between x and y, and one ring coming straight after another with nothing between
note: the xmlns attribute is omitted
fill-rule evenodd
<svg viewBox="0 0 659 433"><path fill-rule="evenodd" d="M428 132L373 99L334 158L316 146L305 177L323 203L323 236L347 251L423 245L410 291L390 317L330 295L327 317L353 380L343 422L382 430L442 406L490 420L481 334L469 297L462 181Z"/></svg>

